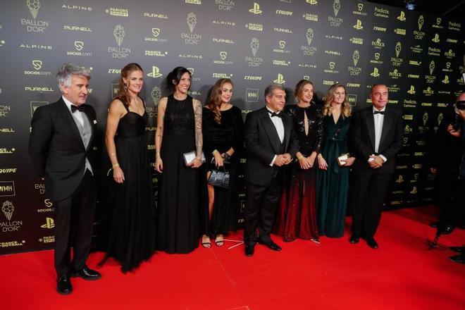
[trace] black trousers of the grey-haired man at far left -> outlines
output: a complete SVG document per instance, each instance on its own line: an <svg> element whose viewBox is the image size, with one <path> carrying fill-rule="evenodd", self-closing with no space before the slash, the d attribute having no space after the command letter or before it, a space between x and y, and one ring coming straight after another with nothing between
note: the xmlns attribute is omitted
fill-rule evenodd
<svg viewBox="0 0 465 310"><path fill-rule="evenodd" d="M55 269L57 277L66 275L70 268L85 266L94 225L96 184L88 170L77 190L67 199L54 202L55 221ZM70 248L73 247L73 261Z"/></svg>

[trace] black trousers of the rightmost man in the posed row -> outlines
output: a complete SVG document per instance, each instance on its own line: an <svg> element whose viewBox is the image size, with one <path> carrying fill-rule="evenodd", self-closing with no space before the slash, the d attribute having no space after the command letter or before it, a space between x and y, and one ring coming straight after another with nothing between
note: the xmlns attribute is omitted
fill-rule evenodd
<svg viewBox="0 0 465 310"><path fill-rule="evenodd" d="M376 170L354 175L350 188L352 235L365 238L375 235L391 180L392 174L380 174Z"/></svg>

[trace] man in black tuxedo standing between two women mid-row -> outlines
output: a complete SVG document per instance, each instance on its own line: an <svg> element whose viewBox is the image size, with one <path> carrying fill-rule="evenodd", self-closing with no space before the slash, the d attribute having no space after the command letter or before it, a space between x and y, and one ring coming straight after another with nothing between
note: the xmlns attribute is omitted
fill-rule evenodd
<svg viewBox="0 0 465 310"><path fill-rule="evenodd" d="M281 194L280 171L291 162L298 147L292 120L283 113L285 98L282 85L266 87L266 106L247 114L245 120L247 202L244 243L247 256L254 254L257 241L275 251L281 250L270 237Z"/></svg>

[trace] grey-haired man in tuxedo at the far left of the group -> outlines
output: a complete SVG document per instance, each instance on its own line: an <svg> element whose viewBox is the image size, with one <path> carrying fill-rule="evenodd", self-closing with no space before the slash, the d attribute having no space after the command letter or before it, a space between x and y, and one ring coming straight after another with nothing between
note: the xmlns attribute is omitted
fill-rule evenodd
<svg viewBox="0 0 465 310"><path fill-rule="evenodd" d="M65 63L56 77L62 96L35 111L29 154L56 210L56 290L69 294L70 277L101 278L85 265L94 224L97 118L94 108L85 104L90 70Z"/></svg>

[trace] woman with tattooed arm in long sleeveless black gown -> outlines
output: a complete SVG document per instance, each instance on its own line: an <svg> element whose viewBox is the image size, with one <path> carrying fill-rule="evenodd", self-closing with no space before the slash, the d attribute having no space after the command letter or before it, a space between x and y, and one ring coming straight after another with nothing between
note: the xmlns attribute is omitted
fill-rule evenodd
<svg viewBox="0 0 465 310"><path fill-rule="evenodd" d="M199 246L199 166L202 165L202 104L187 94L191 73L175 68L166 77L172 94L159 101L155 134L158 193L157 249L189 253ZM185 163L183 154L194 151Z"/></svg>

